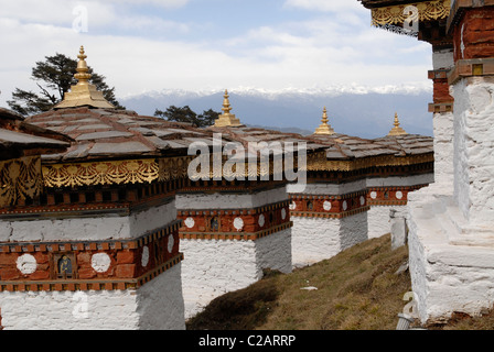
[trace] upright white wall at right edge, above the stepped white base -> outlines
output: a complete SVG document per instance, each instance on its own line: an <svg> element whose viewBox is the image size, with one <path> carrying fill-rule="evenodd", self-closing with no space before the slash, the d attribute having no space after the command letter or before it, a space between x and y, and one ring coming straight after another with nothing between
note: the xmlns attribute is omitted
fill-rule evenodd
<svg viewBox="0 0 494 352"><path fill-rule="evenodd" d="M494 84L460 80L454 96L454 195L472 224L494 229Z"/></svg>

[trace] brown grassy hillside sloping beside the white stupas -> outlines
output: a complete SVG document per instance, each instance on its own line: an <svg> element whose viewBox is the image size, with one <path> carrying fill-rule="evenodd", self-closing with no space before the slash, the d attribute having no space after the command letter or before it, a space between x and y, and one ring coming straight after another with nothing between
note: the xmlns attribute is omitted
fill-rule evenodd
<svg viewBox="0 0 494 352"><path fill-rule="evenodd" d="M291 274L267 272L258 283L213 300L187 329L395 330L411 284L408 271L397 273L408 249L390 246L385 235ZM455 315L448 326L426 328L491 330L494 315Z"/></svg>

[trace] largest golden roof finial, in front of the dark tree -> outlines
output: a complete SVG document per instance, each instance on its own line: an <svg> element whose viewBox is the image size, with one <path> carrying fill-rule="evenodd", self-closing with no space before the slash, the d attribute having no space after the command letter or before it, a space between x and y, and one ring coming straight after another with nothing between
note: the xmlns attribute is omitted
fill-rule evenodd
<svg viewBox="0 0 494 352"><path fill-rule="evenodd" d="M86 55L84 53L84 46L80 46L79 58L77 63L77 74L74 78L77 79L77 85L71 87L71 91L64 95L64 100L57 103L54 109L62 108L75 108L89 106L93 108L104 108L104 109L115 109L115 107L109 103L101 91L96 89L96 86L89 84L92 75L89 74L89 68L86 64Z"/></svg>

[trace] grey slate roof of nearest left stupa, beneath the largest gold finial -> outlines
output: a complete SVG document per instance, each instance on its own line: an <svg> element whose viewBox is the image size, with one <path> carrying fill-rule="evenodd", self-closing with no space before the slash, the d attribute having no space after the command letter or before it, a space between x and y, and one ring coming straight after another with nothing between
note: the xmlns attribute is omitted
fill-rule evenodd
<svg viewBox="0 0 494 352"><path fill-rule="evenodd" d="M190 124L139 116L135 111L87 107L51 110L30 117L32 124L65 133L75 143L45 162L83 162L186 155L191 143L211 144L211 133Z"/></svg>

